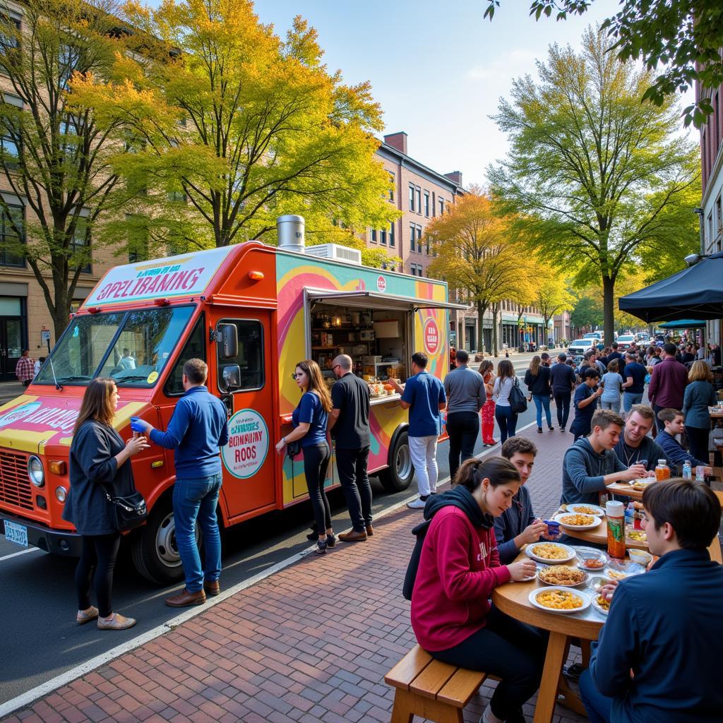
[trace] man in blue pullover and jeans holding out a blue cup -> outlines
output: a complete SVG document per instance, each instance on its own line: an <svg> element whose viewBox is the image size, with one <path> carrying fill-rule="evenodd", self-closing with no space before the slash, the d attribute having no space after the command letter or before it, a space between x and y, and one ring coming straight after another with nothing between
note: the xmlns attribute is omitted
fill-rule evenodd
<svg viewBox="0 0 723 723"><path fill-rule="evenodd" d="M221 534L216 505L223 474L219 448L228 444L226 406L206 388L208 366L202 359L183 365L184 395L176 402L166 432L138 420L136 432L147 432L151 442L174 450L174 521L185 588L166 598L166 605L187 607L206 602L206 594L218 595L221 586ZM205 562L196 542L196 521L201 528Z"/></svg>

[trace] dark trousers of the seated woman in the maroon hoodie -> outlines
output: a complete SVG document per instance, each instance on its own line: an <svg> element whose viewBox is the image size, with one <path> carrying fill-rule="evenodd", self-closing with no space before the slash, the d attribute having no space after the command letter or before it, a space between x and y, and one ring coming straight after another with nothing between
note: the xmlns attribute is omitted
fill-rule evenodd
<svg viewBox="0 0 723 723"><path fill-rule="evenodd" d="M542 680L548 633L519 623L495 607L487 623L453 648L431 652L445 663L500 677L489 705L502 720L519 711Z"/></svg>

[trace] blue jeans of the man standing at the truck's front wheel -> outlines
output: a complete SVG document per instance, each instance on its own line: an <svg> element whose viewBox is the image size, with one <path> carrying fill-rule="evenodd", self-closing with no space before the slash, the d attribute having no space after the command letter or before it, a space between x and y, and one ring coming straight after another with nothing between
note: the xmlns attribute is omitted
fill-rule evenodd
<svg viewBox="0 0 723 723"><path fill-rule="evenodd" d="M198 592L204 580L215 582L221 576L221 534L218 532L216 505L222 479L223 475L219 472L210 477L176 479L174 484L176 545L189 592ZM196 544L196 521L203 538L203 568Z"/></svg>

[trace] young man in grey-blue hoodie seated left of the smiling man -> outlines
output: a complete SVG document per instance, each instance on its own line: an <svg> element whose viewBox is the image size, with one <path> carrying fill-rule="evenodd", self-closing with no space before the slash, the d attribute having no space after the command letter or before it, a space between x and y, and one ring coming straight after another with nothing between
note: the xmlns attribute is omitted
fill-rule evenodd
<svg viewBox="0 0 723 723"><path fill-rule="evenodd" d="M620 414L598 409L591 424L590 435L573 442L562 458L562 504L597 505L608 484L648 474L643 465L625 465L612 451L625 424Z"/></svg>

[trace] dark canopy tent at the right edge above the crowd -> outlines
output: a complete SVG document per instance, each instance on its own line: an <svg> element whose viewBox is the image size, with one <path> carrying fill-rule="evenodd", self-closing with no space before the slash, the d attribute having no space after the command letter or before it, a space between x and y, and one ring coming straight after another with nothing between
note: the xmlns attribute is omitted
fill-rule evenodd
<svg viewBox="0 0 723 723"><path fill-rule="evenodd" d="M620 311L646 322L723 317L723 252L712 254L617 302Z"/></svg>

